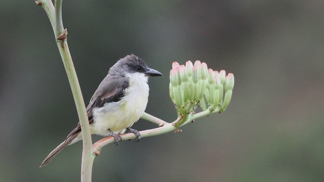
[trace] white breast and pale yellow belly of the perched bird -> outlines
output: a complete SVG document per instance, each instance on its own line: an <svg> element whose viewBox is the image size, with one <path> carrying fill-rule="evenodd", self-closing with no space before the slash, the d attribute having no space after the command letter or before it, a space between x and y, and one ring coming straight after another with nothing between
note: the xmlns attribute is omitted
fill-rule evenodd
<svg viewBox="0 0 324 182"><path fill-rule="evenodd" d="M124 97L118 102L106 103L101 108L94 108L94 123L91 124L92 134L109 135L108 129L115 133L123 133L142 116L148 101L149 87L147 77L143 73L132 73L129 87Z"/></svg>

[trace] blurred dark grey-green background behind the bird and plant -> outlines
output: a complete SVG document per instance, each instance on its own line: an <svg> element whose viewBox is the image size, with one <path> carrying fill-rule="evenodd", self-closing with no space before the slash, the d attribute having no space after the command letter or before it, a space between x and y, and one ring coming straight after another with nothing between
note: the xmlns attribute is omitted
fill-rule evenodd
<svg viewBox="0 0 324 182"><path fill-rule="evenodd" d="M323 9L301 0L64 1L86 104L131 53L165 75L149 80L146 112L169 122L173 61L235 76L224 113L106 146L93 181L324 181ZM80 142L38 167L78 122L48 17L34 1L2 1L0 22L0 181L79 181Z"/></svg>

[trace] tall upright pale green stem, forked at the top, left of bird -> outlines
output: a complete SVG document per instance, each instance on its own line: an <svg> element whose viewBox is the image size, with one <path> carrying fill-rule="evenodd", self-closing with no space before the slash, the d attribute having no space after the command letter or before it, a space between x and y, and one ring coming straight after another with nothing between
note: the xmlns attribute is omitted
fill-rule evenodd
<svg viewBox="0 0 324 182"><path fill-rule="evenodd" d="M62 22L62 0L55 1L55 7L50 0L38 0L46 11L52 24L55 38L63 32ZM68 48L66 38L56 40L64 68L70 83L74 103L80 121L82 136L83 136L83 152L82 152L82 167L81 181L91 181L93 156L90 151L92 149L92 140L89 127L89 120L86 111L85 101L82 96L81 88L77 79L75 68L72 62L71 54Z"/></svg>

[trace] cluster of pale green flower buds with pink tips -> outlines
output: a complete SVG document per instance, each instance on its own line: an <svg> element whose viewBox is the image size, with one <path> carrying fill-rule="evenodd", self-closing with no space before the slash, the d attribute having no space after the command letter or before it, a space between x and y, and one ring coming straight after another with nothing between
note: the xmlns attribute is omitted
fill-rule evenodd
<svg viewBox="0 0 324 182"><path fill-rule="evenodd" d="M186 65L173 62L170 71L170 97L179 114L193 111L197 105L203 110L228 106L234 87L234 75L224 70L213 71L206 63L187 61Z"/></svg>

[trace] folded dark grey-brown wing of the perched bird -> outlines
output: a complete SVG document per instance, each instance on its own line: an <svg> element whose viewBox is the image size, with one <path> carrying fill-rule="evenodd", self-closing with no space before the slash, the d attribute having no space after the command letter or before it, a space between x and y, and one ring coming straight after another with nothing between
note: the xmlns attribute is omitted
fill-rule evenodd
<svg viewBox="0 0 324 182"><path fill-rule="evenodd" d="M124 97L124 90L128 86L128 78L119 77L108 79L108 77L105 77L99 84L87 107L89 124L93 122L92 108L100 108L104 106L105 103L119 101L120 98ZM77 135L80 130L80 123L77 123L77 126L67 135L67 139L72 135Z"/></svg>

